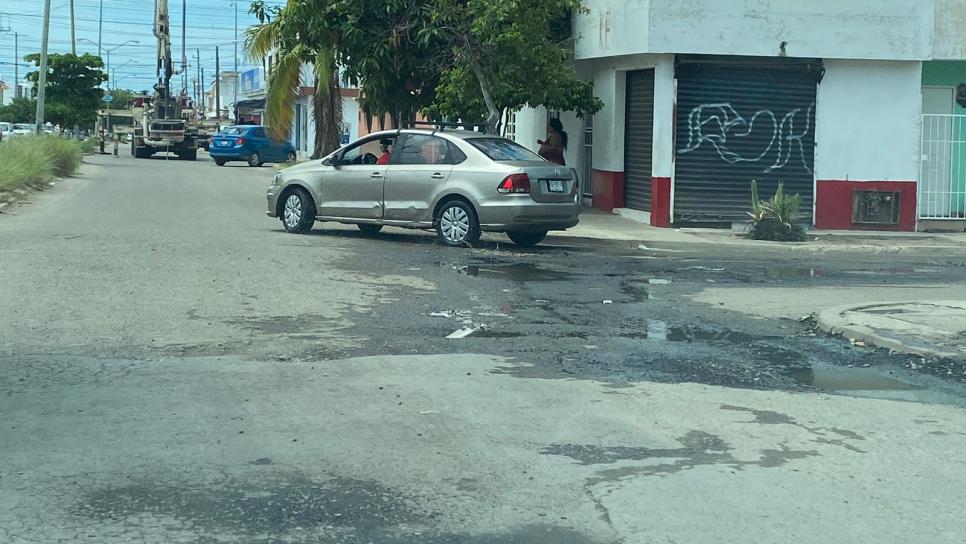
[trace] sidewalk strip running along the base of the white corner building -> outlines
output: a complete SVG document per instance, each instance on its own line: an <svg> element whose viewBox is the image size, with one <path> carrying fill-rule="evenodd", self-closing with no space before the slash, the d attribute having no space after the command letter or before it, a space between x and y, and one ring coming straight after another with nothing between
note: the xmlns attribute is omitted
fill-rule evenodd
<svg viewBox="0 0 966 544"><path fill-rule="evenodd" d="M808 231L805 242L767 242L751 240L740 231L707 228L656 228L619 215L593 208L584 208L580 224L565 232L551 232L550 240L597 240L640 244L710 244L789 251L887 251L901 248L960 248L966 249L966 233L936 234L925 232L882 231Z"/></svg>

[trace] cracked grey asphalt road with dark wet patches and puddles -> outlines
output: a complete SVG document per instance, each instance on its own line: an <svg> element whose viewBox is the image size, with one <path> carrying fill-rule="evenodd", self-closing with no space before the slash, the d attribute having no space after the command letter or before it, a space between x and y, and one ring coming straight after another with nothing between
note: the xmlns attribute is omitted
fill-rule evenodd
<svg viewBox="0 0 966 544"><path fill-rule="evenodd" d="M963 368L799 320L962 251L291 236L268 168L87 161L0 216L2 542L966 533Z"/></svg>

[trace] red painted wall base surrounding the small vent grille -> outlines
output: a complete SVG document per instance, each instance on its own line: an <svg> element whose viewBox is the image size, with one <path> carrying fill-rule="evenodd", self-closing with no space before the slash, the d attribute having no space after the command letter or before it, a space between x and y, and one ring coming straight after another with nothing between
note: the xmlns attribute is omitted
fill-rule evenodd
<svg viewBox="0 0 966 544"><path fill-rule="evenodd" d="M856 190L898 191L899 225L852 223L852 192ZM853 230L916 230L915 181L818 180L815 192L815 228Z"/></svg>

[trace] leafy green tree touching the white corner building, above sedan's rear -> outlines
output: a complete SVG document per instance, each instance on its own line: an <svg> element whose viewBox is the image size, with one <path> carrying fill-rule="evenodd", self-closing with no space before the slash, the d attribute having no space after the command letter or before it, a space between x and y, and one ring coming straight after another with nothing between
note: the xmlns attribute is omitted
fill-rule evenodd
<svg viewBox="0 0 966 544"><path fill-rule="evenodd" d="M439 113L496 126L504 109L525 105L600 109L591 83L567 63L580 0L434 0L433 8L420 38L449 48L432 105Z"/></svg>

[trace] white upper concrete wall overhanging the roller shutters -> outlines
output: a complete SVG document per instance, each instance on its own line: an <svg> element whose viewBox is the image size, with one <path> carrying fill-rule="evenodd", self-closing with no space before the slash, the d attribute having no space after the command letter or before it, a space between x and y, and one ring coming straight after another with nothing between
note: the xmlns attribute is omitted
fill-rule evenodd
<svg viewBox="0 0 966 544"><path fill-rule="evenodd" d="M966 0L589 0L578 59L639 53L966 58ZM938 57L937 57L938 58Z"/></svg>

